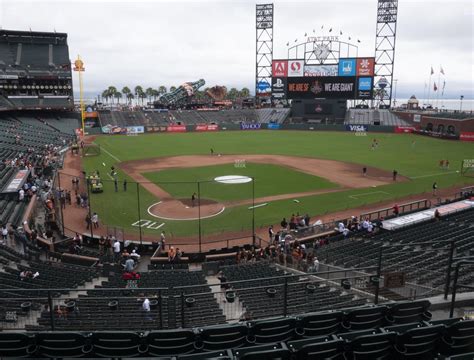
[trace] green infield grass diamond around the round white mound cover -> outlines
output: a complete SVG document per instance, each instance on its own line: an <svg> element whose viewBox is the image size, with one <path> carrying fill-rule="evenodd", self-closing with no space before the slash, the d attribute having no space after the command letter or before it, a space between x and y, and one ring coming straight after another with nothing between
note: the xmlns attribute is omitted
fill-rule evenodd
<svg viewBox="0 0 474 360"><path fill-rule="evenodd" d="M201 198L220 202L252 199L252 184L222 184L214 178L223 175L243 175L255 179L255 198L337 188L326 179L305 174L287 167L273 164L247 162L245 168L234 164L201 166L182 169L166 169L143 174L148 180L159 184L174 198L190 198L198 192ZM177 182L178 181L178 182ZM295 186L295 184L298 184Z"/></svg>

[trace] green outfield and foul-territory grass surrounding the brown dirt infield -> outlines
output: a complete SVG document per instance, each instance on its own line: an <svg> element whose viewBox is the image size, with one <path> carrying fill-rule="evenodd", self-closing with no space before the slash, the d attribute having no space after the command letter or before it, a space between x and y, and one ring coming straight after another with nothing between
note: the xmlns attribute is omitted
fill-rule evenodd
<svg viewBox="0 0 474 360"><path fill-rule="evenodd" d="M374 138L377 138L380 146L376 151L371 151L370 144ZM415 141L414 144L413 141ZM309 213L313 218L317 218L317 215L321 214L430 192L434 181L438 183L439 188L474 184L474 178L462 177L456 173L462 159L474 158L474 146L471 143L408 134L369 133L368 136L363 137L355 136L349 132L234 131L146 134L136 137L100 136L96 139L96 143L101 145L101 154L84 159L86 171L100 169L105 172L106 168L102 163L105 163L108 169L120 161L177 155L206 155L209 154L209 149L212 147L221 154L279 154L347 161L388 171L397 169L400 175L411 178L409 182L380 186L377 188L380 191L378 193L372 193L373 189L369 188L306 196L299 199L300 203L291 200L273 201L268 206L255 210L257 227L277 223L282 217L287 217L292 212ZM449 171L438 168L440 159L449 159L451 163ZM209 169L201 168L201 170L173 169L163 171L161 174L150 173L147 176L152 181L163 181L168 176L174 176L173 173L180 179L187 176L205 177L207 174L213 176L213 171L216 168L214 166ZM266 166L262 166L262 171L257 168L252 175L257 178L256 194L276 194L287 191L273 187L267 182L263 187L259 186L258 179L263 179L266 176L263 171L266 168ZM192 175L195 171L197 171L196 174ZM254 171L253 164L249 171ZM289 169L280 167L275 171L286 174ZM232 173L235 171L233 170ZM291 176L285 176L286 184L300 189L300 183L293 182L294 176L297 175L309 176L292 171ZM119 171L119 179L124 177L126 175ZM318 180L315 177L310 177L320 182L318 186L331 186L324 179ZM274 181L274 177L270 176L270 179ZM128 180L131 182L131 179ZM298 178L297 181L304 181L304 179ZM189 191L183 190L183 197L189 196ZM215 196L222 195L217 193ZM232 194L232 196L238 195ZM140 204L137 200L137 188L132 183L129 183L126 193L123 191L115 193L113 184L106 182L104 193L92 195L91 206L106 224L122 227L127 231L137 231L138 228L132 226L132 223L136 222L138 218L159 221L147 213L147 208L156 203L158 199L141 187L139 197ZM421 197L423 195L420 195ZM202 233L205 235L215 232L248 230L251 228L250 220L251 211L247 209L247 206L234 207L227 209L216 218L202 220ZM163 228L174 236L196 235L197 221L166 221ZM162 229L142 228L142 231L158 234Z"/></svg>

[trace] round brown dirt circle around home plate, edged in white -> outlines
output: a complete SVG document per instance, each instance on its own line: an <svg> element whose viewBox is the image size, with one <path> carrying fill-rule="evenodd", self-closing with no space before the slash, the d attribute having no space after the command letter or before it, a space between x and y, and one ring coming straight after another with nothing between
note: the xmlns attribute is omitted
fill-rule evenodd
<svg viewBox="0 0 474 360"><path fill-rule="evenodd" d="M225 206L217 201L201 199L193 203L191 199L163 200L148 208L151 216L164 220L198 220L217 216L224 212Z"/></svg>

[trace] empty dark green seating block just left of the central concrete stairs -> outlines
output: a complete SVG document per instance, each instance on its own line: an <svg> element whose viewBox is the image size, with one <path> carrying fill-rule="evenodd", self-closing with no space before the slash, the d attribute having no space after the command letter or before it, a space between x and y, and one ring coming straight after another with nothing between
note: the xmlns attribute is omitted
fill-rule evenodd
<svg viewBox="0 0 474 360"><path fill-rule="evenodd" d="M87 296L80 295L76 299L78 311L69 314L67 319L56 316L55 329L151 330L225 323L225 316L219 309L211 289L206 285L201 271L144 272L141 273L139 288L134 290L125 289L127 283L120 275L119 273L111 274L108 281L96 287L100 290L89 290ZM191 285L197 286L174 289ZM140 288L155 290L146 291ZM187 299L191 297L189 294L192 294L195 300L191 307L187 305ZM145 314L142 310L144 297L149 298L151 302L149 314ZM109 303L114 300L118 302L116 308L109 306ZM51 326L49 313L42 314L39 325L44 328Z"/></svg>

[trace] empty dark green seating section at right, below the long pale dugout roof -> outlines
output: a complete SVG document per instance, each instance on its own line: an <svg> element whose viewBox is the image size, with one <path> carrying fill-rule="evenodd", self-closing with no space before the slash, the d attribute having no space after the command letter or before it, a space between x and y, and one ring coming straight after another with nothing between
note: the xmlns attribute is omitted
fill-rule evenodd
<svg viewBox="0 0 474 360"><path fill-rule="evenodd" d="M382 271L403 271L406 281L431 288L437 294L443 291L446 281L449 241L455 241L457 257L468 256L474 246L473 222L474 211L467 210L441 221L382 231L369 238L329 241L316 254L320 261L336 266L369 267L377 265L381 245L399 245L384 249ZM474 273L466 268L459 281L472 283Z"/></svg>

